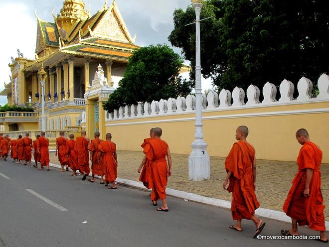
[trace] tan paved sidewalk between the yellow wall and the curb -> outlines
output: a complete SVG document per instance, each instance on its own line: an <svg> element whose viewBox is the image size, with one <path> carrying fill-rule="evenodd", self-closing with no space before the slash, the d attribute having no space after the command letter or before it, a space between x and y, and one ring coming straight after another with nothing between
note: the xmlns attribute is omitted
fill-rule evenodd
<svg viewBox="0 0 329 247"><path fill-rule="evenodd" d="M138 181L137 168L144 156L143 152L117 151L118 177ZM222 189L226 176L223 157L210 157L210 180L188 180L188 155L171 154L172 176L167 188L194 193L201 196L231 201L232 195ZM55 153L50 153L50 162L59 164ZM282 206L297 172L296 162L257 160L256 195L262 208L282 212ZM329 164L323 164L322 193L325 201L325 217L329 221Z"/></svg>

